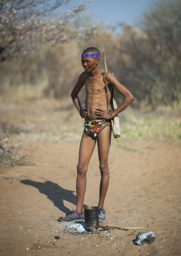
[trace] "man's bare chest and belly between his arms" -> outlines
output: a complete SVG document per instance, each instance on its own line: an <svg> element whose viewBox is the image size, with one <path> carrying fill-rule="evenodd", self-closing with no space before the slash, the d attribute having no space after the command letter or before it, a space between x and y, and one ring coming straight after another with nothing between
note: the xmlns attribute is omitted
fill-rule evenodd
<svg viewBox="0 0 181 256"><path fill-rule="evenodd" d="M84 84L86 87L86 111L87 120L95 120L96 116L93 112L95 108L108 109L107 93L104 87L103 76L104 70L99 69L98 75L90 76L89 72L85 72ZM111 98L112 86L108 85L109 99Z"/></svg>

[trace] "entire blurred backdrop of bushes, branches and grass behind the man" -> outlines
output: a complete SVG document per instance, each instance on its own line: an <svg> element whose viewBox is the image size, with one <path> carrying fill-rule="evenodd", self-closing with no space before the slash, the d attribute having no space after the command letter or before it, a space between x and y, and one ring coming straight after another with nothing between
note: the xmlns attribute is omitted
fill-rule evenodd
<svg viewBox="0 0 181 256"><path fill-rule="evenodd" d="M98 48L104 69L104 43L108 70L135 97L120 114L121 139L180 140L181 1L157 1L136 27L90 21L89 1L60 15L67 2L0 0L1 139L79 140L70 93L83 50ZM84 88L79 97L84 107Z"/></svg>

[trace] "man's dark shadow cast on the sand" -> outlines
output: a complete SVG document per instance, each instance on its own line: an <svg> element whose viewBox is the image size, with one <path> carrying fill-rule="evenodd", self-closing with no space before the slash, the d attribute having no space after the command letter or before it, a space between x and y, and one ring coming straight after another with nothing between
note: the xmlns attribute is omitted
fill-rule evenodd
<svg viewBox="0 0 181 256"><path fill-rule="evenodd" d="M74 205L76 205L76 195L73 194L73 190L64 189L59 186L57 183L54 183L50 180L45 182L37 182L33 180L21 180L21 183L25 185L33 186L39 189L40 193L45 194L52 203L64 213L69 213L72 209L67 208L63 204L63 200L66 200ZM84 205L84 208L87 205Z"/></svg>

